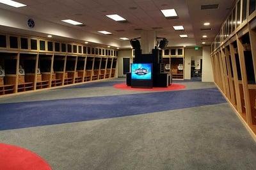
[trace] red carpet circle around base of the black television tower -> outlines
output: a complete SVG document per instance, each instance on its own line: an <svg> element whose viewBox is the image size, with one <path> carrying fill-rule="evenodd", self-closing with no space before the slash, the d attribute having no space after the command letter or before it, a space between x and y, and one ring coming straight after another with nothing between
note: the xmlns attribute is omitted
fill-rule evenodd
<svg viewBox="0 0 256 170"><path fill-rule="evenodd" d="M135 91L173 91L173 90L186 88L186 86L184 86L182 84L172 84L172 85L168 86L167 88L152 88L152 89L131 88L131 86L127 86L125 83L115 84L113 87L116 89L135 90Z"/></svg>

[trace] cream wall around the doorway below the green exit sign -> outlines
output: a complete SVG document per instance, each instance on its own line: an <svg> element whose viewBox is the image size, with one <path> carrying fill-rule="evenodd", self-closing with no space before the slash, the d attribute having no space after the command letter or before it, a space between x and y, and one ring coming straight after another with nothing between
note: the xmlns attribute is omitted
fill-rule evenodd
<svg viewBox="0 0 256 170"><path fill-rule="evenodd" d="M185 79L191 79L191 59L202 58L202 49L195 50L195 48L185 48ZM195 63L196 64L196 63ZM200 59L199 59L200 64ZM204 64L203 64L204 65ZM200 66L199 66L200 69Z"/></svg>

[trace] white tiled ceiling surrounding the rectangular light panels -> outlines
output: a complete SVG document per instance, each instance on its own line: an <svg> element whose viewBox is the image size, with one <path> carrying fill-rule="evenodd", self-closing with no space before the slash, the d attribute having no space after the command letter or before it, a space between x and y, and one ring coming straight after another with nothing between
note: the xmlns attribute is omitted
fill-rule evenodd
<svg viewBox="0 0 256 170"><path fill-rule="evenodd" d="M99 34L97 31L110 31L111 38L140 36L134 29L157 29L157 36L166 37L169 46L200 45L202 35L207 35L211 43L220 30L221 23L230 12L235 0L15 0L28 6L13 8L0 4L0 8L22 13L31 17L48 20L69 27ZM220 4L217 10L200 10L202 4ZM136 7L131 10L131 7ZM179 19L165 19L160 10L175 8ZM118 14L129 22L120 24L105 15ZM70 26L61 22L73 19L83 22L86 27ZM200 31L204 22L211 22L212 31ZM184 31L174 31L172 26L182 25ZM116 30L124 30L118 32ZM188 34L189 38L180 38Z"/></svg>

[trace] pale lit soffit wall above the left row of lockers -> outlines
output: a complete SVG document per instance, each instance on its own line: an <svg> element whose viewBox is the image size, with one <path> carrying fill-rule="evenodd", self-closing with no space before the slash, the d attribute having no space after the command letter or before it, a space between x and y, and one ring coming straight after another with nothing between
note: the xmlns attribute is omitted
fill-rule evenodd
<svg viewBox="0 0 256 170"><path fill-rule="evenodd" d="M48 22L42 19L33 18L36 25L33 28L29 28L27 25L27 21L29 18L31 17L22 15L20 13L0 9L0 29L8 33L10 31L8 27L10 27L11 29L21 29L23 30L23 32L27 31L26 33L28 33L28 35L36 32L41 33L42 35L55 35L72 38L75 40L83 40L104 45L111 45L114 47L120 47L122 44L122 41L116 40L115 38L111 38L109 36L89 33L88 31L77 29L77 26L69 27L61 24L55 24L53 22Z"/></svg>

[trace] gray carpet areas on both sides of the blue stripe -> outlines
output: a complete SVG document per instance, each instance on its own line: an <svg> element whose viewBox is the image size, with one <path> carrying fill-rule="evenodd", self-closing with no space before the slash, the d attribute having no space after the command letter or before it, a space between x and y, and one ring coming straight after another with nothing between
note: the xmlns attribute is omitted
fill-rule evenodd
<svg viewBox="0 0 256 170"><path fill-rule="evenodd" d="M120 79L118 79L120 80ZM187 89L213 83L184 82ZM0 103L149 93L112 87L54 89ZM1 111L0 111L1 112ZM74 111L75 112L75 111ZM256 143L230 106L0 131L0 143L34 151L53 169L255 169Z"/></svg>

